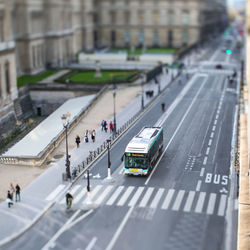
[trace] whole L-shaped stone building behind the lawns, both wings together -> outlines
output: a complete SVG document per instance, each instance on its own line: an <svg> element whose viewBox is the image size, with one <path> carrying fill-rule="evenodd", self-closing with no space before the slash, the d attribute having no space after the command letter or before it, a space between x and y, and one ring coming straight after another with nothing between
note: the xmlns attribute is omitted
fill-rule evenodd
<svg viewBox="0 0 250 250"><path fill-rule="evenodd" d="M225 0L12 0L18 74L64 66L82 50L177 47L225 27Z"/></svg>

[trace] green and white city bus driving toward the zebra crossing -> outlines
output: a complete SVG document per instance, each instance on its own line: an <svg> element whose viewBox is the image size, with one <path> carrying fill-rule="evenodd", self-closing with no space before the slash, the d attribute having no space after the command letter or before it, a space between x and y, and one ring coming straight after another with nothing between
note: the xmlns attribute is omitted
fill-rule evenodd
<svg viewBox="0 0 250 250"><path fill-rule="evenodd" d="M163 128L144 127L125 149L124 174L148 175L163 149Z"/></svg>

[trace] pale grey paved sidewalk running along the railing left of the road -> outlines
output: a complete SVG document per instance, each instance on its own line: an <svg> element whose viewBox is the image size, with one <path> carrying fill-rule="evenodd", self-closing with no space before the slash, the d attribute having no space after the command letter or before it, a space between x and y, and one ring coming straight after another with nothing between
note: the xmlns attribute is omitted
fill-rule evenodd
<svg viewBox="0 0 250 250"><path fill-rule="evenodd" d="M177 72L175 71L175 74L176 73ZM163 90L163 88L165 88L171 82L170 76L171 72L169 72L168 75L162 74L161 76L158 76L158 81L160 81L161 84L161 90ZM153 90L154 96L158 94L158 85L155 84L154 81L145 84L143 88L144 93L147 90ZM139 90L140 92L140 85L137 86L137 90ZM119 91L119 89L117 91ZM110 100L110 97L112 97L112 91L109 91L109 101L113 102L112 99ZM147 105L151 101L152 98L146 98L144 94L145 105ZM116 102L119 102L118 98L116 98ZM119 129L140 110L141 95L138 95L133 102L128 104L119 113L117 113L117 129ZM112 117L112 114L113 110L111 111L110 117ZM81 122L87 123L88 119L89 118L87 114ZM98 116L98 119L95 119L95 122L97 122L97 124L100 124L101 120L102 117ZM93 126L92 128L96 127ZM84 132L85 131L82 131L81 133L81 139ZM71 134L70 136L74 138L75 134ZM82 161L89 156L89 151L96 150L97 147L99 147L109 137L110 133L101 131L99 127L99 129L96 129L95 143L92 143L91 141L89 141L89 143L82 142L79 148L74 147L73 150L69 150L69 154L71 155L71 169L72 167L81 164ZM74 140L73 142L71 141L71 144L75 145ZM72 147L72 145L70 145L70 147ZM65 183L64 185L62 185L62 174L65 172L65 140L61 146L61 150L61 153L63 153L63 157L57 161L56 159L53 159L53 161L55 162L51 164L50 168L21 192L22 200L20 203L15 203L14 206L10 209L8 209L7 203L5 202L0 204L0 221L2 228L2 230L0 231L0 247L19 237L22 233L28 230L51 206L53 206L53 204L61 197L60 195L64 195L65 191L70 187L70 182L66 183L66 187ZM58 195L56 197L48 199L48 195L55 189L58 189Z"/></svg>

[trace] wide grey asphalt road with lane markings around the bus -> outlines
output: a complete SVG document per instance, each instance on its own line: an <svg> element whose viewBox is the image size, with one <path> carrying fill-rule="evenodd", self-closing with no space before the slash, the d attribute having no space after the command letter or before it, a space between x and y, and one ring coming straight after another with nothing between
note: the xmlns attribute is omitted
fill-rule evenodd
<svg viewBox="0 0 250 250"><path fill-rule="evenodd" d="M236 249L231 154L239 78L228 83L228 72L215 65L226 63L239 76L239 58L218 48L206 59L211 64L201 63L189 79L166 89L112 145L113 183L104 181L107 154L90 169L93 204L86 205L83 177L72 189L72 210L65 211L62 199L4 249ZM154 170L148 177L124 176L120 158L127 143L153 125L164 128L164 152Z"/></svg>

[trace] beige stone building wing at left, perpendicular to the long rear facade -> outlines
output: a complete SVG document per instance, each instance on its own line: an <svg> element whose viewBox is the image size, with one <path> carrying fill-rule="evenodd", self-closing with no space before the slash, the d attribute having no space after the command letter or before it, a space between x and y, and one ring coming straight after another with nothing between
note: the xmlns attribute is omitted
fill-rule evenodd
<svg viewBox="0 0 250 250"><path fill-rule="evenodd" d="M18 74L64 66L84 49L86 0L14 0Z"/></svg>

